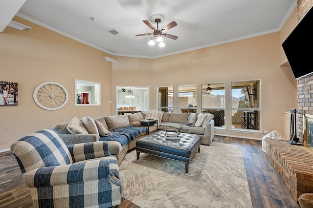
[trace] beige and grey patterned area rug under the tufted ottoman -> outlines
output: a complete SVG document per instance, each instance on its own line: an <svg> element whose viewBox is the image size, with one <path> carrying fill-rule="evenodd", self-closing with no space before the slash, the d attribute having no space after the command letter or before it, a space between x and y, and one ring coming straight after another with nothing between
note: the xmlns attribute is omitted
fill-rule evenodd
<svg viewBox="0 0 313 208"><path fill-rule="evenodd" d="M185 164L140 153L120 165L122 196L141 208L252 208L241 146L213 142Z"/></svg>

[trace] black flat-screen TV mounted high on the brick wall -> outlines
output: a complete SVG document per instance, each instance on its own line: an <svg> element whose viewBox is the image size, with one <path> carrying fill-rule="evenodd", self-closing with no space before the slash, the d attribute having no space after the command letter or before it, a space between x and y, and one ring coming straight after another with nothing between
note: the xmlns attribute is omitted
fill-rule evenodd
<svg viewBox="0 0 313 208"><path fill-rule="evenodd" d="M313 72L313 8L294 28L282 46L295 79Z"/></svg>

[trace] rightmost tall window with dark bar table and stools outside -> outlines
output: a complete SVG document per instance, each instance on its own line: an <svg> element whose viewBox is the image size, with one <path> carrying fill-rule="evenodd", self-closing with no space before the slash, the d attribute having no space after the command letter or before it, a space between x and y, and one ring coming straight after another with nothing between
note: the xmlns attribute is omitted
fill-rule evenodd
<svg viewBox="0 0 313 208"><path fill-rule="evenodd" d="M260 80L231 83L232 128L260 130Z"/></svg>

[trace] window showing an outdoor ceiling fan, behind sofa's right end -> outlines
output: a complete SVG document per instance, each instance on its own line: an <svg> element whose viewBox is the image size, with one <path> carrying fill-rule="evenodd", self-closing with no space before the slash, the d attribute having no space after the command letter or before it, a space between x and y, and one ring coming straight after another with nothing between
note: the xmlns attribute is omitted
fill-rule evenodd
<svg viewBox="0 0 313 208"><path fill-rule="evenodd" d="M202 112L214 115L214 126L225 125L225 83L205 83L202 86ZM210 87L208 93L206 89Z"/></svg>

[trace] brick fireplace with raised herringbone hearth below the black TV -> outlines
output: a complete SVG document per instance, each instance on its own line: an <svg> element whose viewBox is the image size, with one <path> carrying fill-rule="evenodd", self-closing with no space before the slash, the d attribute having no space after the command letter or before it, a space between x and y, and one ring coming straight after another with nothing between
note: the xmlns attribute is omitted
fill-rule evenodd
<svg viewBox="0 0 313 208"><path fill-rule="evenodd" d="M298 22L313 7L313 0L297 1ZM299 53L302 53L299 51ZM308 66L312 67L312 66ZM306 117L313 118L313 74L296 80L297 83L297 113L296 129L299 142L305 146L290 145L286 141L267 139L269 163L284 181L284 184L297 201L303 193L313 192L313 149L306 148L307 133L304 134ZM305 117L306 116L306 117ZM312 124L313 125L313 124ZM309 149L311 148L311 150Z"/></svg>

